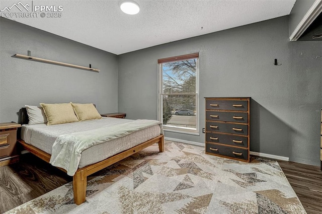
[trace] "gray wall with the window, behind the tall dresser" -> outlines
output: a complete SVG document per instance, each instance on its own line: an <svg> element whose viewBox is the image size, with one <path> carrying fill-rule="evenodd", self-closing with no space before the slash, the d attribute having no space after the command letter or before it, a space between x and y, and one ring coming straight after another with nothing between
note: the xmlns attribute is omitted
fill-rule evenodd
<svg viewBox="0 0 322 214"><path fill-rule="evenodd" d="M157 119L157 59L199 52L200 136L203 97L252 97L251 151L319 165L321 42L289 42L281 17L118 56L118 110L129 119ZM274 65L277 58L281 64Z"/></svg>

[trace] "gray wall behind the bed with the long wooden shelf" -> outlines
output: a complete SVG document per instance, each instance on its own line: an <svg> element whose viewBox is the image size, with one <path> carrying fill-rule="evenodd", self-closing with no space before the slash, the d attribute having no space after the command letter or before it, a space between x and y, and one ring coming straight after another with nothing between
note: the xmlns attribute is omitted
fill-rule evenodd
<svg viewBox="0 0 322 214"><path fill-rule="evenodd" d="M25 104L95 103L117 111L117 56L0 18L0 122L18 122ZM100 73L11 57L15 53L101 69Z"/></svg>

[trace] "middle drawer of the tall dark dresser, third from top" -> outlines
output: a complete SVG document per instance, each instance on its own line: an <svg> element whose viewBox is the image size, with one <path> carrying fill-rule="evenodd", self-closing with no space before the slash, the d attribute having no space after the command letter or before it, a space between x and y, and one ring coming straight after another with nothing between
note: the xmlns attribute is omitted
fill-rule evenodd
<svg viewBox="0 0 322 214"><path fill-rule="evenodd" d="M220 123L220 122L207 122L207 131L224 132L231 134L248 135L248 125L244 124L232 124L232 123Z"/></svg>

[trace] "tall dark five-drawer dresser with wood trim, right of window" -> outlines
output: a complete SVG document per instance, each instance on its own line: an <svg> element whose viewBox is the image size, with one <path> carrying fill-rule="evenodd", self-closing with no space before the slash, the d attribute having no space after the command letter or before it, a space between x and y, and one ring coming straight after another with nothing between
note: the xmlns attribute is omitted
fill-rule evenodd
<svg viewBox="0 0 322 214"><path fill-rule="evenodd" d="M206 97L206 154L250 161L250 97Z"/></svg>

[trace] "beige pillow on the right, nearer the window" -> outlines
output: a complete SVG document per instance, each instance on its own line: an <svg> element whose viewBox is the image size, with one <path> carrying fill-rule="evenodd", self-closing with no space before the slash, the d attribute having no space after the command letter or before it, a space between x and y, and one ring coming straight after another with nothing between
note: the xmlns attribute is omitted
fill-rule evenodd
<svg viewBox="0 0 322 214"><path fill-rule="evenodd" d="M102 116L97 111L93 103L80 104L80 103L71 103L74 108L75 114L78 117L79 121L85 120L94 120L101 119Z"/></svg>

